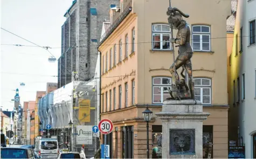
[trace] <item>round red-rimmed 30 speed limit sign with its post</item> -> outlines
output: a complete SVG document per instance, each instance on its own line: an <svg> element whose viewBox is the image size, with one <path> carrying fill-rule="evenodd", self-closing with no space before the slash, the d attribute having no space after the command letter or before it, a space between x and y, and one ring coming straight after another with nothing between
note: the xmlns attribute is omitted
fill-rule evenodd
<svg viewBox="0 0 256 159"><path fill-rule="evenodd" d="M99 122L99 131L104 134L104 158L109 158L108 157L108 152L107 152L107 134L111 133L113 131L113 122L109 119L102 119Z"/></svg>

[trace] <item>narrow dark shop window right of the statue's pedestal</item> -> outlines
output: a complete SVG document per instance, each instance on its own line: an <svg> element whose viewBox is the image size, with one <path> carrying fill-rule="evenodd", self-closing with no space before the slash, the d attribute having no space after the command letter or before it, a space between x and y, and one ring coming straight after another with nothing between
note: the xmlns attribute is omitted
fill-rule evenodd
<svg viewBox="0 0 256 159"><path fill-rule="evenodd" d="M212 125L203 125L203 158L213 158Z"/></svg>

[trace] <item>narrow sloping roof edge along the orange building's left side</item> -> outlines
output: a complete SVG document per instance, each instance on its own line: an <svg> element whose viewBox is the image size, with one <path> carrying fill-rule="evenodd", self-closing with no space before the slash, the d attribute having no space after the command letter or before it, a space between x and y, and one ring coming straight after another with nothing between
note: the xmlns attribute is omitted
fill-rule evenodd
<svg viewBox="0 0 256 159"><path fill-rule="evenodd" d="M121 13L121 15L112 23L112 25L106 30L106 32L101 36L101 41L100 44L98 46L100 46L107 38L108 36L115 30L115 28L117 26L119 26L119 24L122 22L122 20L124 18L127 17L127 15L132 11L132 3L133 1L130 1L126 8L123 10L123 12Z"/></svg>

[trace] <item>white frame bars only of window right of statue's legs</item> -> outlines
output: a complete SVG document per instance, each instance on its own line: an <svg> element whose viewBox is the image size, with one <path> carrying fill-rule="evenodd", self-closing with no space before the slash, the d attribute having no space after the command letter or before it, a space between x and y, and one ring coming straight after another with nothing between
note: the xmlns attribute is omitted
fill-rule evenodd
<svg viewBox="0 0 256 159"><path fill-rule="evenodd" d="M195 83L195 89L196 88L199 88L200 89L200 101L202 102L202 104L204 105L211 105L212 103L212 83L211 83L211 78L201 78L201 77L197 77L197 78L194 78L194 81L196 79L200 79L201 80L201 85L196 85ZM202 79L206 79L206 80L209 80L210 81L210 84L209 85L202 85ZM210 89L210 95L203 95L203 89ZM196 95L195 95L196 96ZM210 97L210 103L203 103L203 97L204 96L209 96Z"/></svg>

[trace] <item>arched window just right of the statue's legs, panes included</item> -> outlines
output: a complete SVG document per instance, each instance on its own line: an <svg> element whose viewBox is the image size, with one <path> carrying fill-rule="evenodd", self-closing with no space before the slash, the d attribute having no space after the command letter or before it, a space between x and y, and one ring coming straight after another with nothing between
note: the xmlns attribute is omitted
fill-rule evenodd
<svg viewBox="0 0 256 159"><path fill-rule="evenodd" d="M195 83L195 99L202 104L211 104L211 79L210 78L194 78Z"/></svg>

